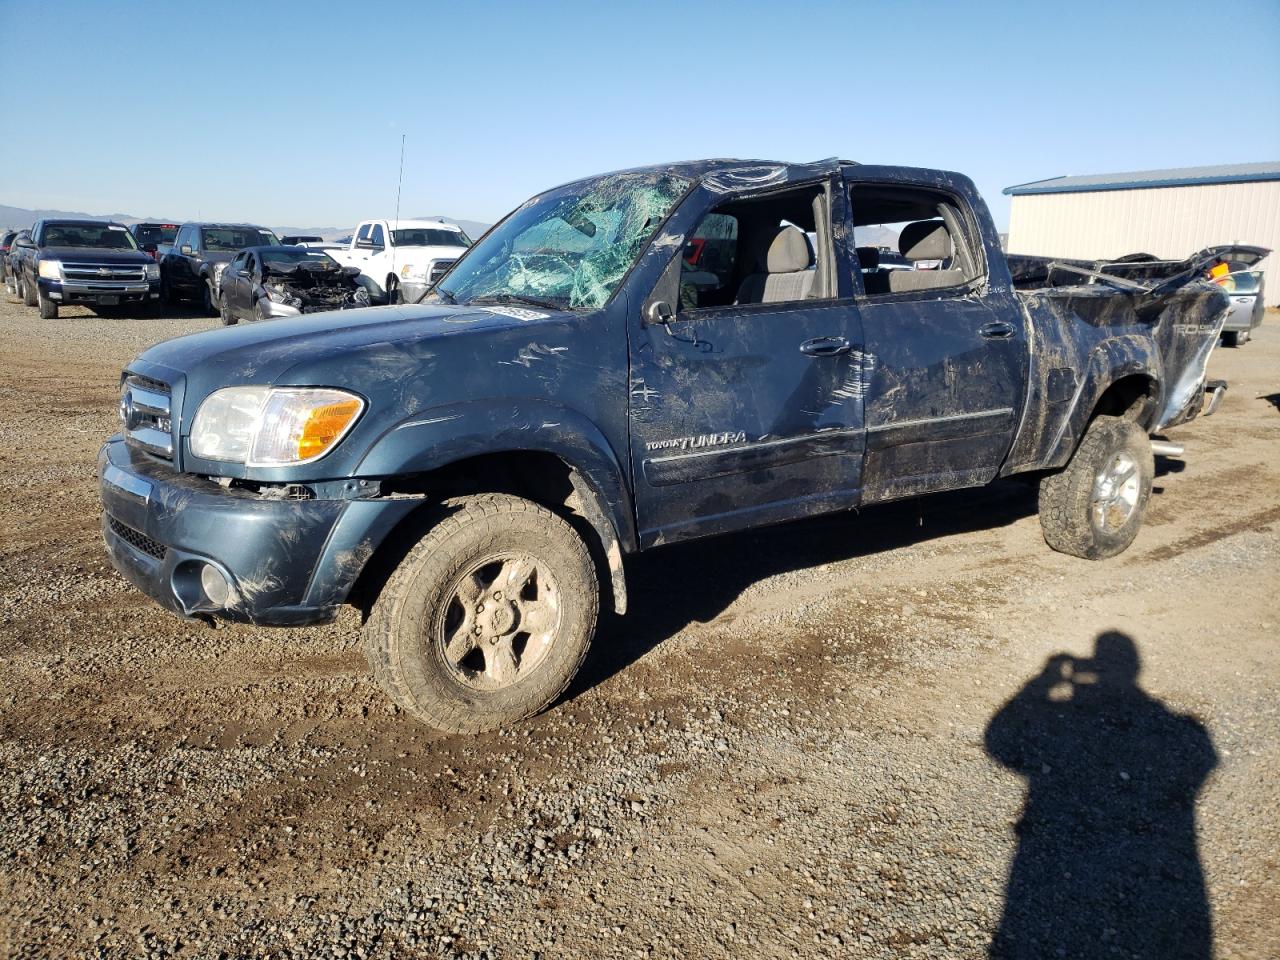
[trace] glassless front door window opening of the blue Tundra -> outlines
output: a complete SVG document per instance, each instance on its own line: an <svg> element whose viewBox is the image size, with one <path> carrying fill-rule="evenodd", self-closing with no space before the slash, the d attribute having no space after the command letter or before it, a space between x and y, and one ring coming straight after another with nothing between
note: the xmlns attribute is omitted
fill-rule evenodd
<svg viewBox="0 0 1280 960"><path fill-rule="evenodd" d="M822 184L722 204L685 242L681 308L829 300L829 223Z"/></svg>

